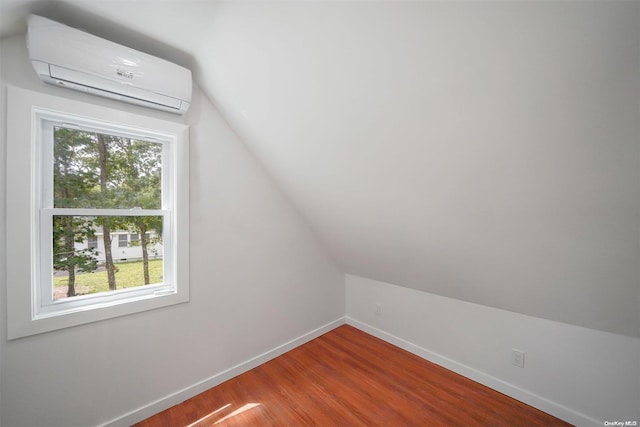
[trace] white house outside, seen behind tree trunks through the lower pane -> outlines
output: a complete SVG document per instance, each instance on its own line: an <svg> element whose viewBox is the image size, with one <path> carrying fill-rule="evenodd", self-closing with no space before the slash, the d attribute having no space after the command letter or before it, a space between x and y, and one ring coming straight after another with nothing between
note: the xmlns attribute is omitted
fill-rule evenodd
<svg viewBox="0 0 640 427"><path fill-rule="evenodd" d="M147 245L149 259L162 258L162 243L157 242L156 233L147 233L150 243ZM98 254L98 262L105 261L104 258L104 238L101 232L96 232L94 237L90 237L82 243L76 243L76 249L95 248ZM111 253L114 262L138 261L142 259L142 246L140 245L140 235L127 231L111 232Z"/></svg>

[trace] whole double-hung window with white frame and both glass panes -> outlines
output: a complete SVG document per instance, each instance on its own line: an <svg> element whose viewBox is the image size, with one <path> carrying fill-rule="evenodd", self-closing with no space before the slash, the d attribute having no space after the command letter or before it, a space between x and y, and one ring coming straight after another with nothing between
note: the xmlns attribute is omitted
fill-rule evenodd
<svg viewBox="0 0 640 427"><path fill-rule="evenodd" d="M188 301L188 128L8 94L8 228L32 236L9 260L9 337Z"/></svg>

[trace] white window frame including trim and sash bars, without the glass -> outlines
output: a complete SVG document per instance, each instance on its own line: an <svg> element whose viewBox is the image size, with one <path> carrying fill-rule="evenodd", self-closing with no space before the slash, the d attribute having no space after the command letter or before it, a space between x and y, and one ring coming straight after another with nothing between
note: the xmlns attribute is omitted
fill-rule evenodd
<svg viewBox="0 0 640 427"><path fill-rule="evenodd" d="M7 244L17 242L20 235L30 236L25 244L17 248L12 244L7 251L8 338L189 301L188 126L13 86L8 86L7 95L7 176L11 183L7 188ZM162 284L52 301L53 215L96 215L95 209L52 206L52 195L47 194L51 190L43 179L53 180L53 134L52 128L43 132L43 127L54 122L162 142L161 209L126 213L163 216ZM51 135L51 141L41 139L42 135ZM98 215L123 213L119 209L98 211Z"/></svg>

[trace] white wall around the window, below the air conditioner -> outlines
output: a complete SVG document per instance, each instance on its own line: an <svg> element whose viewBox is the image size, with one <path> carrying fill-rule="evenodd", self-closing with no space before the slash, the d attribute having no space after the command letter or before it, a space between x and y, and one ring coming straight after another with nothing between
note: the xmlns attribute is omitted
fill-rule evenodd
<svg viewBox="0 0 640 427"><path fill-rule="evenodd" d="M182 120L45 87L30 67L23 36L3 39L0 47L3 121L5 83ZM3 122L2 426L89 426L134 411L118 421L130 423L138 408L179 390L197 391L194 385L344 315L341 272L197 88L184 120L191 125L191 301L12 341L6 338L4 274L5 227L11 226L5 224L11 177L5 180L4 165L11 159L5 158ZM16 244L24 242L7 247Z"/></svg>

